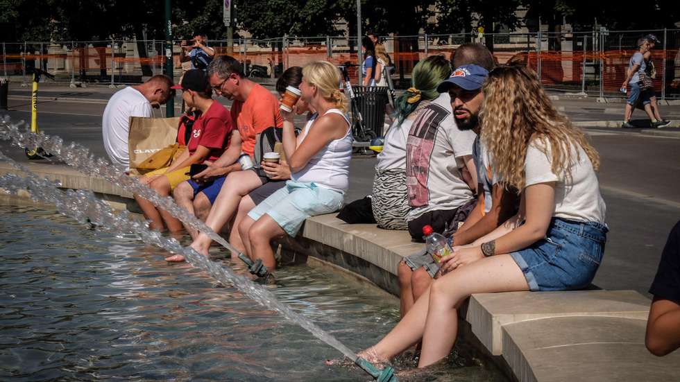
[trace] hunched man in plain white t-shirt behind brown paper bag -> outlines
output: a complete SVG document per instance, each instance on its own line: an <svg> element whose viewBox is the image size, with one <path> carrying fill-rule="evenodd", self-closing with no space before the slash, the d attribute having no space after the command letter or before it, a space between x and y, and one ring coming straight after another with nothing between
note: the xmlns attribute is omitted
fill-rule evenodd
<svg viewBox="0 0 680 382"><path fill-rule="evenodd" d="M172 80L158 75L142 85L129 86L116 92L106 104L101 132L106 153L111 162L128 168L128 133L130 116L151 117L151 108L158 108L171 96Z"/></svg>

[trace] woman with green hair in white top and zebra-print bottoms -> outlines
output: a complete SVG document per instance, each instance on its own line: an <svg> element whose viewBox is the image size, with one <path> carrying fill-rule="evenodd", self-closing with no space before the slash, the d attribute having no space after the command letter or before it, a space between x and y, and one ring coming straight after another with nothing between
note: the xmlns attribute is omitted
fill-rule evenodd
<svg viewBox="0 0 680 382"><path fill-rule="evenodd" d="M406 141L416 116L434 98L437 85L451 74L443 55L431 55L418 62L411 74L411 87L395 101L394 123L385 134L382 153L377 155L371 205L377 226L408 229L411 211L406 189Z"/></svg>

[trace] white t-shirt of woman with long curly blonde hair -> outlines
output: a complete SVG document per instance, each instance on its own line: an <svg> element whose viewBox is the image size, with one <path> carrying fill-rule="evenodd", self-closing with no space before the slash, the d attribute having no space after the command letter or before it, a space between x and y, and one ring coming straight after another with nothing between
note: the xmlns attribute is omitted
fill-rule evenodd
<svg viewBox="0 0 680 382"><path fill-rule="evenodd" d="M541 150L544 148L545 153ZM572 145L571 177L552 173L552 150L550 144L534 140L527 148L525 159L526 186L532 184L556 182L555 210L556 218L595 222L604 224L606 206L600 195L600 184L593 170L593 164L583 148ZM579 157L576 157L578 152Z"/></svg>

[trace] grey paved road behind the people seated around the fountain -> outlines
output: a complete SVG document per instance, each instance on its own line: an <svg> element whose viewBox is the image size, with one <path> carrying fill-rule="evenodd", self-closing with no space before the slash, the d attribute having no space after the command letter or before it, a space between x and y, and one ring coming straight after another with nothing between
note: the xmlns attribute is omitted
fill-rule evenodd
<svg viewBox="0 0 680 382"><path fill-rule="evenodd" d="M61 91L63 92L63 91ZM40 102L40 128L65 141L76 141L105 157L101 113L110 91L74 92L83 101ZM14 93L16 94L16 93ZM10 99L12 120L28 120L27 99ZM569 110L566 110L569 113ZM159 116L162 115L158 112ZM595 284L607 289L647 293L666 236L680 219L680 139L652 137L638 131L586 129L602 156L600 184L611 229ZM25 161L23 153L0 142L0 150ZM371 193L374 157L355 157L347 200Z"/></svg>

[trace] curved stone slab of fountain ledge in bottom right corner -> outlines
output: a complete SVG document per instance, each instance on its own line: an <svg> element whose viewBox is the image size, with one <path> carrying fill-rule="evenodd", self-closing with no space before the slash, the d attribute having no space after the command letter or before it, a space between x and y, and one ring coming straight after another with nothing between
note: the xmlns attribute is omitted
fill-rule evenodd
<svg viewBox="0 0 680 382"><path fill-rule="evenodd" d="M674 381L680 353L645 348L646 320L557 317L503 327L504 358L519 381ZM559 328L559 330L555 330Z"/></svg>

